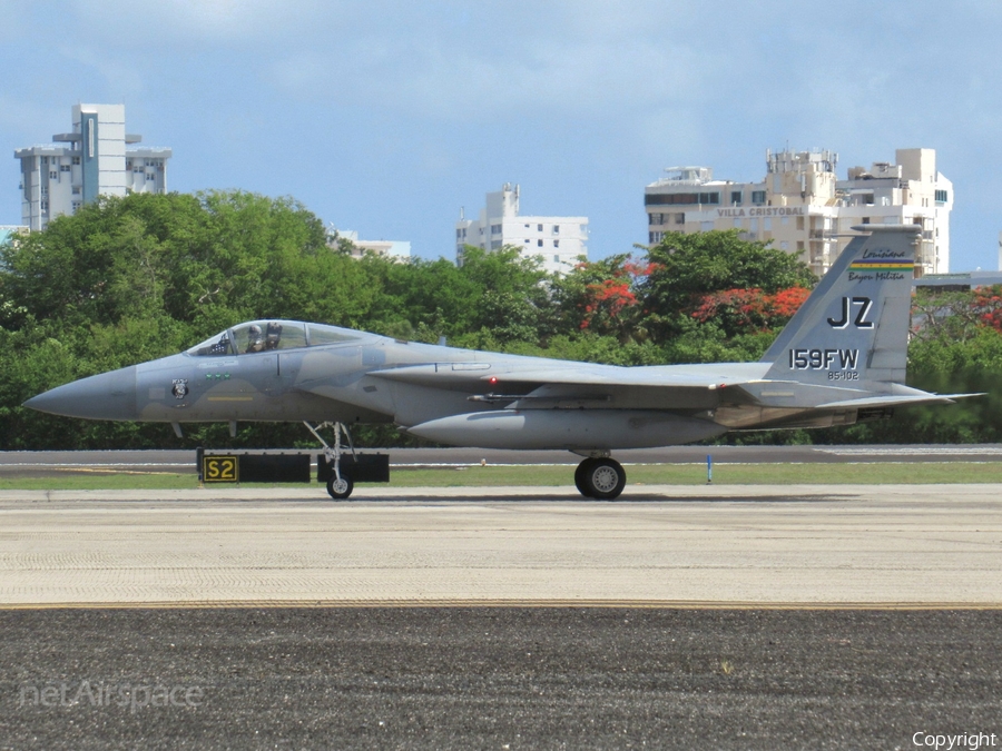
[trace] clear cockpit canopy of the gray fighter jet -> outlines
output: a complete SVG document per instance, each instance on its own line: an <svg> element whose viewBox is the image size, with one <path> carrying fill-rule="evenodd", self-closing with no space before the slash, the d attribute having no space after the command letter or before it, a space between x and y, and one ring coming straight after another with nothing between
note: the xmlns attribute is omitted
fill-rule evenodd
<svg viewBox="0 0 1002 751"><path fill-rule="evenodd" d="M301 320L250 320L228 328L222 334L209 337L202 344L188 349L196 357L219 357L232 355L249 355L274 349L296 349L316 347L324 344L342 344L355 342L363 337L337 326L323 324L304 324Z"/></svg>

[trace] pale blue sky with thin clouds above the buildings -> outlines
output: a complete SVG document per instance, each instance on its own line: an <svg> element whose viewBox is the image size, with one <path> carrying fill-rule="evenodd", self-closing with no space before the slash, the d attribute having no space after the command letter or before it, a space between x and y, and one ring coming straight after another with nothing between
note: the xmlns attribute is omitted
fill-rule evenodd
<svg viewBox="0 0 1002 751"><path fill-rule="evenodd" d="M125 103L170 190L292 196L425 258L504 182L589 217L597 259L646 243L666 167L752 181L766 149L824 148L844 178L933 148L950 270L995 269L1000 38L996 0L0 0L0 224L16 149Z"/></svg>

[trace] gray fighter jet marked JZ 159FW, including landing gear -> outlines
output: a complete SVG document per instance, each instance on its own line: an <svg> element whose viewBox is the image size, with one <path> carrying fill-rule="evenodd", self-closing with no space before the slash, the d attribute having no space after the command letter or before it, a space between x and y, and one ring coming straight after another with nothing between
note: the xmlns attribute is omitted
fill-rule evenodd
<svg viewBox="0 0 1002 751"><path fill-rule="evenodd" d="M26 406L89 419L334 423L328 491L347 497L340 428L395 423L438 443L561 448L574 483L615 498L617 448L731 429L827 427L951 403L904 385L917 228L863 226L760 362L618 367L455 349L295 320L259 320L189 350L91 376ZM316 433L314 432L316 435ZM320 437L317 435L317 437Z"/></svg>

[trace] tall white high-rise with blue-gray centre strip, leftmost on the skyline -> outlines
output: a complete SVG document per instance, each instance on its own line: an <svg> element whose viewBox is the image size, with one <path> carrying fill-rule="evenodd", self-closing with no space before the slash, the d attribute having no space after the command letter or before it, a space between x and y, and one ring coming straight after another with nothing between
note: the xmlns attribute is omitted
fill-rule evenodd
<svg viewBox="0 0 1002 751"><path fill-rule="evenodd" d="M171 151L134 146L141 140L126 134L125 105L75 105L72 132L14 151L21 160L23 224L45 229L100 195L166 192Z"/></svg>

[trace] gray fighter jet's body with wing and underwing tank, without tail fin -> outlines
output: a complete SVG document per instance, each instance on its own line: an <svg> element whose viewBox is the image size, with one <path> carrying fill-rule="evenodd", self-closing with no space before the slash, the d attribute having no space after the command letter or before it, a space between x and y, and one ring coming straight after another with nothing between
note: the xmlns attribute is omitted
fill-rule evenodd
<svg viewBox="0 0 1002 751"><path fill-rule="evenodd" d="M268 327L277 334L268 339ZM163 423L395 423L433 441L515 448L623 448L718 435L719 392L655 386L561 389L539 373L642 372L644 384L759 377L766 364L621 368L392 339L293 320L242 324L160 359L67 384L27 406L61 415ZM527 375L529 374L529 375Z"/></svg>

